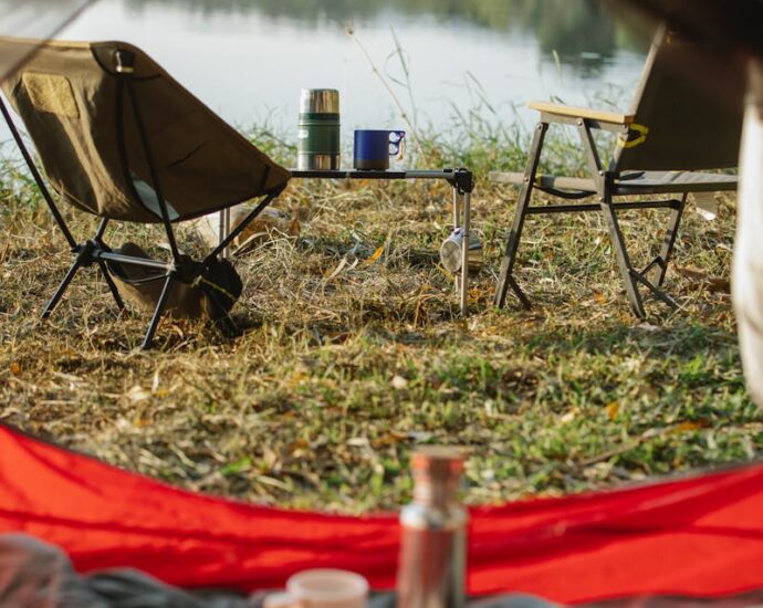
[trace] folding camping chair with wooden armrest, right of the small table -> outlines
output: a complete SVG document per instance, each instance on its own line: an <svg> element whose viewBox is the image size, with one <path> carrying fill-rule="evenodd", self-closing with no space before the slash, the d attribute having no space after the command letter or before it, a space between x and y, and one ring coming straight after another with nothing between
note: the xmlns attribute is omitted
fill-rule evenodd
<svg viewBox="0 0 763 608"><path fill-rule="evenodd" d="M520 186L514 221L506 240L495 292L497 306L504 305L506 292L511 287L522 305L530 308L527 296L512 274L526 216L600 211L609 230L619 273L634 314L639 318L646 316L639 286L646 287L669 306L677 307L673 298L660 287L688 195L736 189L735 176L698 171L736 166L742 126L741 108L725 105L711 95L709 90L740 90L743 75L732 67L734 64L731 62L728 63L729 67L720 71L724 74L724 82L682 78L677 74L679 65L701 71L709 67L710 62L723 65L723 56L701 54L698 48L679 39L663 25L652 42L631 114L598 112L555 103L529 104L541 115L524 172L490 174L493 181ZM571 125L577 129L587 160L586 177L539 174L543 140L552 123ZM600 160L594 129L617 134L617 144L608 167ZM533 190L573 200L595 196L597 201L531 206ZM625 202L615 200L655 195L667 195L668 198ZM618 212L637 209L670 210L659 253L644 270L634 268L618 223Z"/></svg>

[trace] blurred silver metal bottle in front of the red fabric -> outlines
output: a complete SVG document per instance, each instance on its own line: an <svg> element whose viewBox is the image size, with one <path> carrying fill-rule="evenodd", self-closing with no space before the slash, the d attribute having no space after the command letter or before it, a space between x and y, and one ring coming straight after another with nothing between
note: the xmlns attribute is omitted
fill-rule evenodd
<svg viewBox="0 0 763 608"><path fill-rule="evenodd" d="M450 448L414 453L414 502L400 512L399 608L466 604L467 522L458 494L463 457Z"/></svg>

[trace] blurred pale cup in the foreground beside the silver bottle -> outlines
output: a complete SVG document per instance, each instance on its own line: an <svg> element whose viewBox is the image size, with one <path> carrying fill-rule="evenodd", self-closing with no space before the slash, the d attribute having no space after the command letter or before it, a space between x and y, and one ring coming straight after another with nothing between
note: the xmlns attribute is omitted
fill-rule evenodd
<svg viewBox="0 0 763 608"><path fill-rule="evenodd" d="M286 593L272 594L264 608L366 608L368 581L359 574L321 568L286 580Z"/></svg>

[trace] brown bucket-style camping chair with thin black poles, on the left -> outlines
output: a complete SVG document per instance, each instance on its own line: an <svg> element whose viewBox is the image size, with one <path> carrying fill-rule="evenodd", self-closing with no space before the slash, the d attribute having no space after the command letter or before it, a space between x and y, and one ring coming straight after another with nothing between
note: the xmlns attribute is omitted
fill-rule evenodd
<svg viewBox="0 0 763 608"><path fill-rule="evenodd" d="M153 316L149 348L165 312L206 311L234 332L228 315L241 291L220 255L283 190L286 169L180 86L138 49L123 42L72 43L0 39L0 55L36 54L2 83L34 143L48 182L67 203L101 218L77 242L0 101L0 108L74 263L45 306L48 317L81 268L97 265L119 308L123 294L143 298ZM245 219L201 261L182 255L174 224L258 199ZM132 243L105 242L112 222L161 223L169 260L149 259Z"/></svg>

